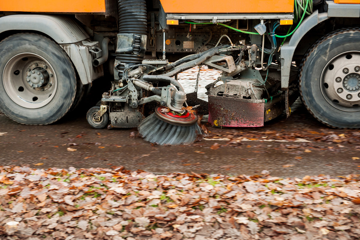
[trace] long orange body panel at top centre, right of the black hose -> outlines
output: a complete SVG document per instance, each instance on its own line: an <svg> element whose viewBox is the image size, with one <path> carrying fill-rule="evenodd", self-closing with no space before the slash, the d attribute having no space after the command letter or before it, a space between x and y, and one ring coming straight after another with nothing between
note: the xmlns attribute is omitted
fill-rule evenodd
<svg viewBox="0 0 360 240"><path fill-rule="evenodd" d="M294 0L160 0L166 13L292 13Z"/></svg>

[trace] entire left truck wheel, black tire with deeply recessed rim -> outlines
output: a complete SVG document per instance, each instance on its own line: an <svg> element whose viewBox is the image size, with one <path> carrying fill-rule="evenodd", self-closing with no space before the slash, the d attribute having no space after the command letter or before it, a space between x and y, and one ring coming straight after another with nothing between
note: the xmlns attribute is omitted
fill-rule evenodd
<svg viewBox="0 0 360 240"><path fill-rule="evenodd" d="M0 53L0 110L7 117L22 124L50 124L62 118L71 109L77 93L76 73L68 55L57 43L39 34L18 33L0 42ZM15 56L25 56L22 58L23 65ZM45 82L42 86L35 85L39 87L33 88L29 85L31 82L26 84L27 82L21 79L29 76L28 69L38 66L35 63L37 58L40 65L38 64L39 67L36 69L45 72L44 78L48 76L51 85ZM28 61L32 61L29 68L26 65L29 64ZM12 71L17 68L12 67L14 65L19 68L14 74L20 77L11 80L15 76L8 73L8 69ZM45 66L47 72L40 66ZM20 92L16 92L18 86ZM48 99L47 95L42 96L41 99L44 100L41 102L40 97L36 96L36 91L39 95L49 91ZM16 94L23 94L23 97L17 98ZM34 95L33 102L27 100L31 94Z"/></svg>

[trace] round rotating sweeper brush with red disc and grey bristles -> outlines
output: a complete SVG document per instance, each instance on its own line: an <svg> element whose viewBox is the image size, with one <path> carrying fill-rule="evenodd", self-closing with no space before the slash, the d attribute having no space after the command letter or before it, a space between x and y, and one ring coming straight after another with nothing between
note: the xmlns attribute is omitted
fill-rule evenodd
<svg viewBox="0 0 360 240"><path fill-rule="evenodd" d="M138 130L145 141L159 145L177 145L202 139L196 114L186 110L181 115L167 111L168 108L158 106L153 114L140 123Z"/></svg>

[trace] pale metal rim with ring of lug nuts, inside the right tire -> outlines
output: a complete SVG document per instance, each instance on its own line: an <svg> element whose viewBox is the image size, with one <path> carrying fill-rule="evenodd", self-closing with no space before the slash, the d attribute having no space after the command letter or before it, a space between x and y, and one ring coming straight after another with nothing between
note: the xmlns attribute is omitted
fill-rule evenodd
<svg viewBox="0 0 360 240"><path fill-rule="evenodd" d="M320 88L334 108L360 111L360 51L348 51L331 59L321 74Z"/></svg>

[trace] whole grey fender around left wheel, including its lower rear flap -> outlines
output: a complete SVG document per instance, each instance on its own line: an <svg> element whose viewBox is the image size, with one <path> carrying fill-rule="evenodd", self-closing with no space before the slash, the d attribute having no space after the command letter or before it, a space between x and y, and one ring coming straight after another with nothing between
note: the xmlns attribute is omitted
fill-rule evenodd
<svg viewBox="0 0 360 240"><path fill-rule="evenodd" d="M72 60L82 84L103 76L102 66L92 66L94 56L89 51L97 42L89 41L89 35L73 19L45 14L16 14L0 18L0 33L14 30L41 32L57 42Z"/></svg>

